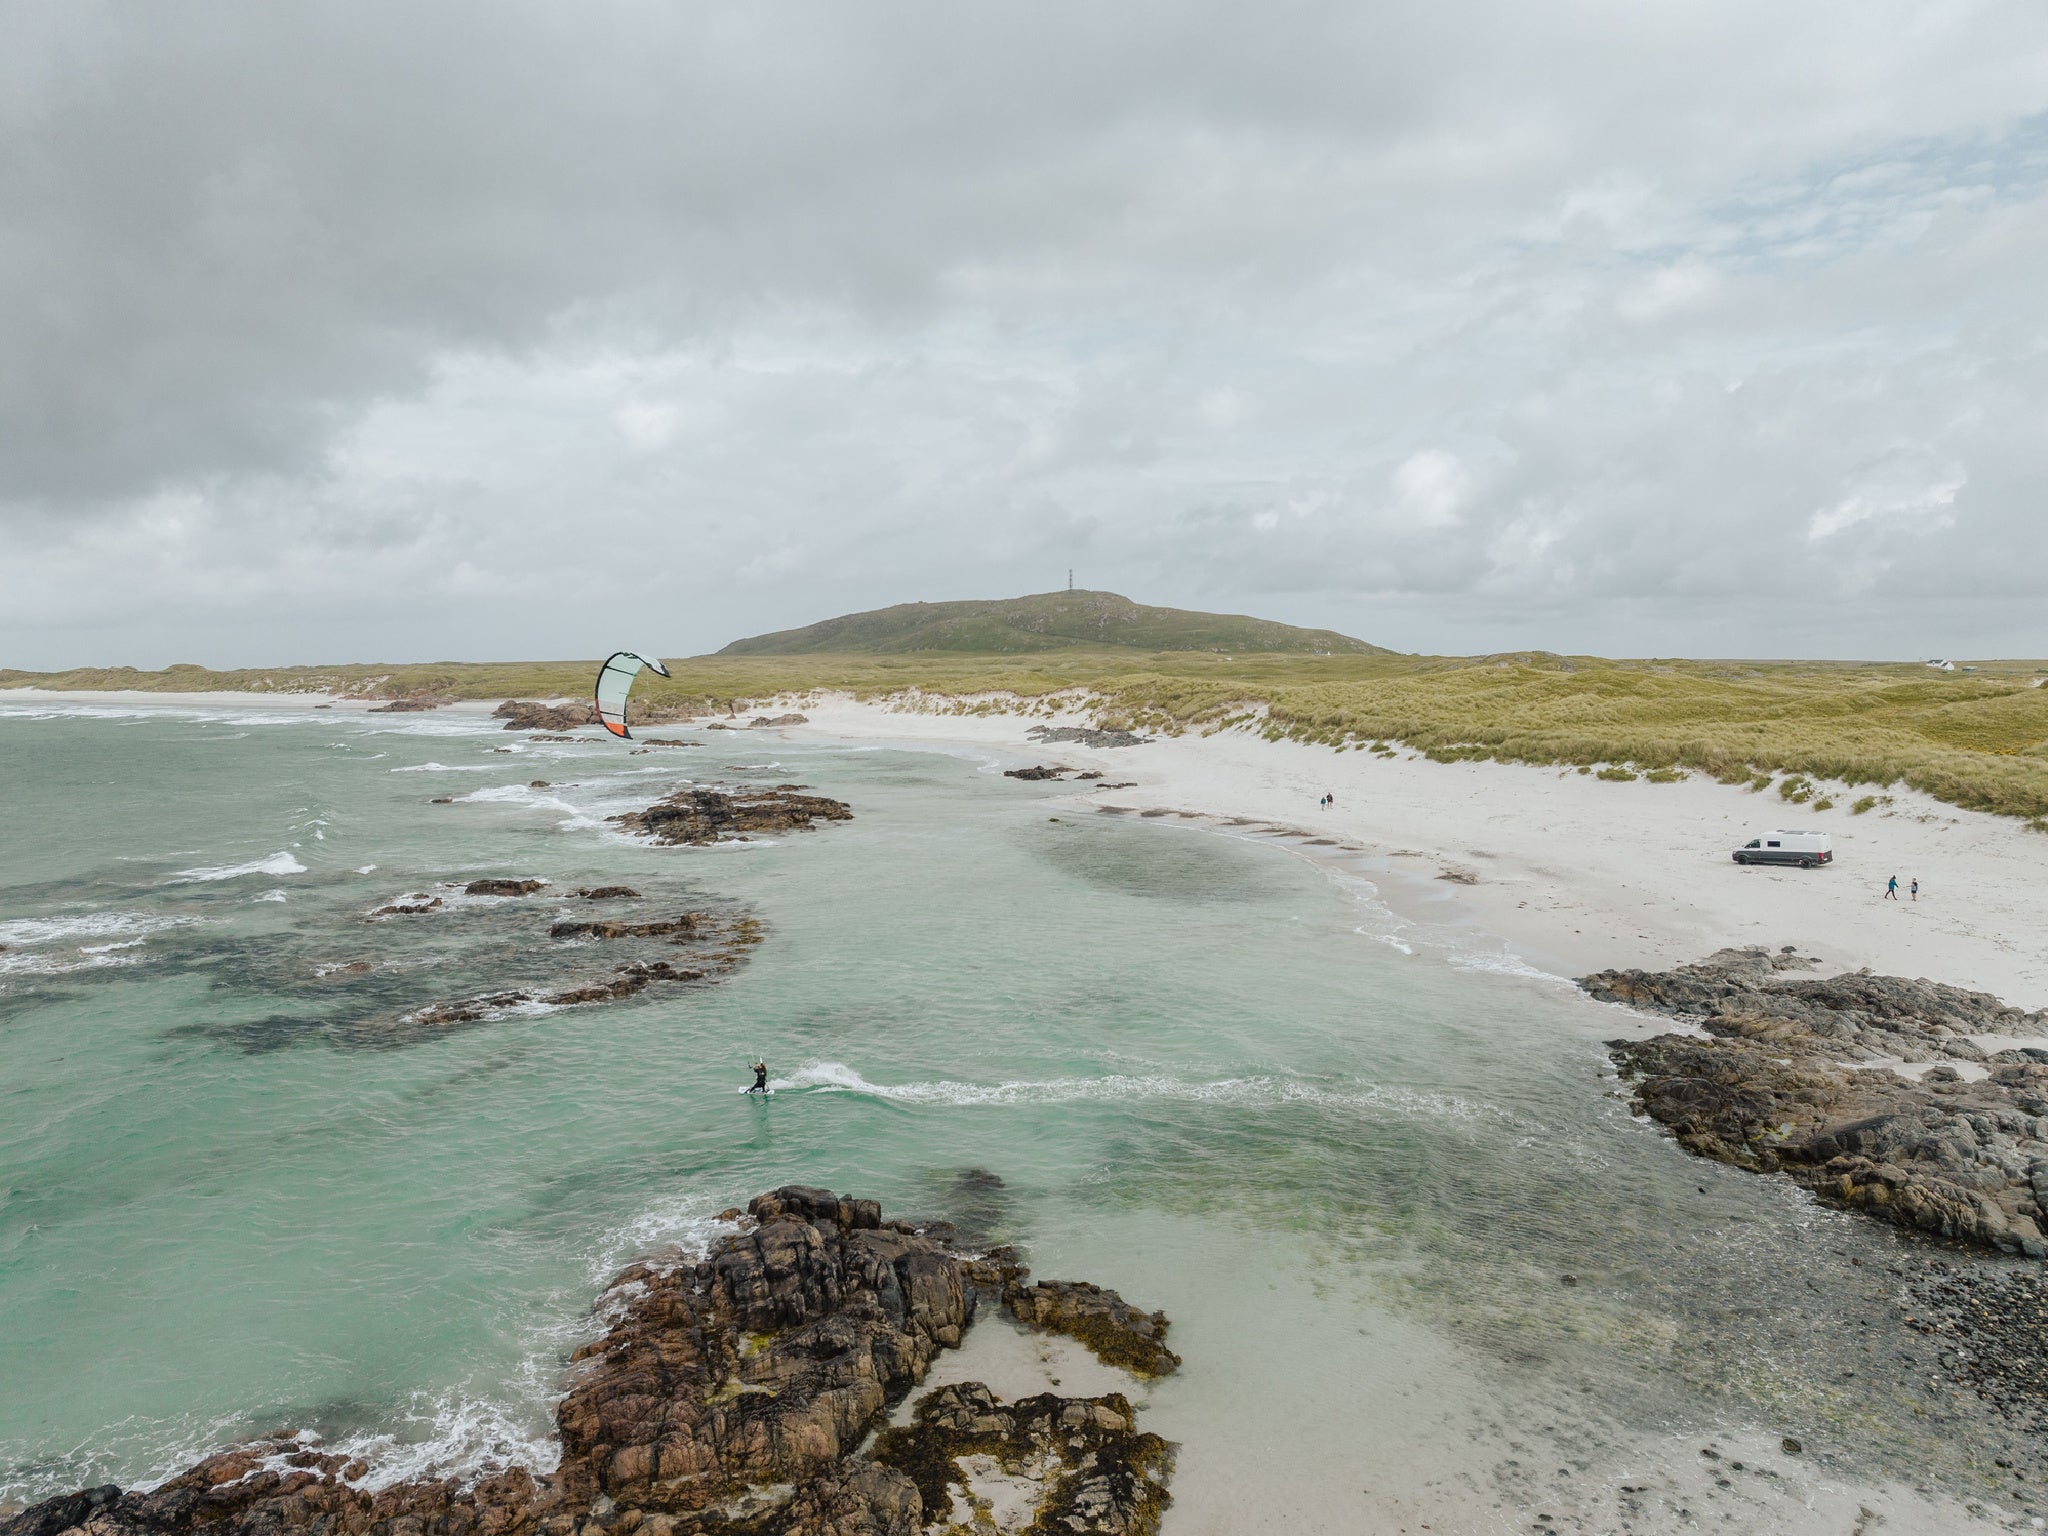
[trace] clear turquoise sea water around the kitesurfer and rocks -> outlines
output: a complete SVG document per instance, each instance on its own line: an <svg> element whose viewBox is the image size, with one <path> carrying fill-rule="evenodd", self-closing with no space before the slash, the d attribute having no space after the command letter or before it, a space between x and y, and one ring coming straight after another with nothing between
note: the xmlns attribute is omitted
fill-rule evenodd
<svg viewBox="0 0 2048 1536"><path fill-rule="evenodd" d="M973 754L492 727L0 705L0 1499L281 1423L379 1477L549 1464L606 1276L784 1182L1163 1307L1182 1530L1204 1489L1298 1522L1438 1487L1481 1522L1536 1462L1569 1509L1552 1462L1714 1427L1974 1487L1989 1432L1845 1325L1884 1311L1892 1239L1677 1155L1606 1071L1626 1016L1384 942L1366 864ZM606 827L684 776L856 819ZM481 874L551 887L367 918ZM408 1022L602 973L545 930L614 883L766 938L717 983ZM754 1053L766 1104L735 1092Z"/></svg>

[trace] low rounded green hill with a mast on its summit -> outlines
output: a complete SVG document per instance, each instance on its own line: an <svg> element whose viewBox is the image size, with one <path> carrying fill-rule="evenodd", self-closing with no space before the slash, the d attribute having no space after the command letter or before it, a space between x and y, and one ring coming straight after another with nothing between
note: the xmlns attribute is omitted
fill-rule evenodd
<svg viewBox="0 0 2048 1536"><path fill-rule="evenodd" d="M1292 655L1393 655L1331 629L1245 614L1147 608L1114 592L1038 592L987 602L899 602L803 629L733 641L719 655L963 651L1018 655L1071 647Z"/></svg>

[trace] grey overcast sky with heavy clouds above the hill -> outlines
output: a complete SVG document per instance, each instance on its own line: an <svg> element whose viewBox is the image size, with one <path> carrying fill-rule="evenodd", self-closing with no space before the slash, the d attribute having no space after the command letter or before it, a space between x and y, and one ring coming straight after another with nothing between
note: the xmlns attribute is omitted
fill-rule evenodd
<svg viewBox="0 0 2048 1536"><path fill-rule="evenodd" d="M2048 6L8 6L0 666L1069 567L1399 649L2048 653Z"/></svg>

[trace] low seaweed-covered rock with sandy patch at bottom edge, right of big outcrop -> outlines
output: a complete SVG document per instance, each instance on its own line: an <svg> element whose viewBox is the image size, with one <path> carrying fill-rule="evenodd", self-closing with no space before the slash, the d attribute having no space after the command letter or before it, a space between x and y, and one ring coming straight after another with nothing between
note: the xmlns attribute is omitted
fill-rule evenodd
<svg viewBox="0 0 2048 1536"><path fill-rule="evenodd" d="M1174 1448L1133 1430L1133 1419L1122 1393L1040 1393L1004 1403L977 1380L954 1382L918 1403L913 1425L885 1430L874 1460L907 1477L920 1505L944 1518L946 1530L997 1528L991 1501L977 1495L977 1477L965 1464L977 1458L1006 1479L1038 1485L1034 1532L1153 1536L1174 1501L1165 1491ZM971 1524L954 1524L963 1505Z"/></svg>

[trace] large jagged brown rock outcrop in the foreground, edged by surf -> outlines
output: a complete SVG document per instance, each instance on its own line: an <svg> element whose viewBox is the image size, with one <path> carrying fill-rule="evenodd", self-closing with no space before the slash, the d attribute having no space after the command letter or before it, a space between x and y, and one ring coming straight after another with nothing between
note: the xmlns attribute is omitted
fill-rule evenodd
<svg viewBox="0 0 2048 1536"><path fill-rule="evenodd" d="M147 1491L45 1499L0 1536L1157 1532L1171 1446L1135 1427L1122 1395L1006 1405L950 1384L885 1430L973 1325L971 1257L829 1190L788 1186L727 1214L737 1231L702 1260L612 1280L608 1327L575 1352L555 1411L553 1473L373 1491L365 1462L279 1432Z"/></svg>

